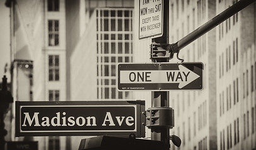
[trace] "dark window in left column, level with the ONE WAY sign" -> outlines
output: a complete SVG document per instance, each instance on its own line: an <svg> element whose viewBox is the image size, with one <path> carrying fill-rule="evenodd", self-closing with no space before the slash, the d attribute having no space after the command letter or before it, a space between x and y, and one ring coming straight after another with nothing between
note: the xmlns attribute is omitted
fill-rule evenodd
<svg viewBox="0 0 256 150"><path fill-rule="evenodd" d="M58 55L49 55L49 81L59 81L59 57Z"/></svg>

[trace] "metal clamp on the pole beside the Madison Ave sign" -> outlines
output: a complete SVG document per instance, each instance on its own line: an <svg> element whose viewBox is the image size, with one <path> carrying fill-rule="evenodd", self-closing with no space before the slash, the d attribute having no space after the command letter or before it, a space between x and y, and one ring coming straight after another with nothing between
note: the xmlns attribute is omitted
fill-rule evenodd
<svg viewBox="0 0 256 150"><path fill-rule="evenodd" d="M174 109L172 108L149 108L146 111L146 126L148 128L174 127Z"/></svg>

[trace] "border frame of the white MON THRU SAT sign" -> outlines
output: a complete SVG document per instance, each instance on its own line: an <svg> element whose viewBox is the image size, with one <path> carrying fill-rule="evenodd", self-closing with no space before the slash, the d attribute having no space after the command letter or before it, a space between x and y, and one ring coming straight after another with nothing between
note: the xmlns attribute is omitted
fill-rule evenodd
<svg viewBox="0 0 256 150"><path fill-rule="evenodd" d="M164 0L158 0L158 1L161 1L162 3L161 3L161 15L162 16L160 16L160 19L162 20L162 21L160 21L160 23L161 23L161 32L157 32L157 33L151 33L151 34L147 34L147 35L144 35L144 36L142 36L142 37L140 37L141 35L142 35L142 33L141 33L141 20L140 19L142 19L142 17L141 17L141 1L143 1L143 0L140 0L139 1L139 12L138 12L138 16L139 16L139 22L138 22L138 26L139 26L139 29L138 29L138 39L147 39L147 38L155 38L155 37L161 37L161 36L163 36L163 34L164 34L164 31L163 31L163 29L164 29ZM157 0L155 0L155 1L157 1ZM150 2L152 2L152 1L150 1ZM151 16L152 17L152 16ZM151 22L151 21L150 21Z"/></svg>

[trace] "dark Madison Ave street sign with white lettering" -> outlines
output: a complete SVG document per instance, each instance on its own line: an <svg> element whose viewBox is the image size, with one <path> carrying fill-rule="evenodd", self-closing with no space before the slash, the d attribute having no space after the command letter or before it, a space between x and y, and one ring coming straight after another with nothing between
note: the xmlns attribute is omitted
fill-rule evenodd
<svg viewBox="0 0 256 150"><path fill-rule="evenodd" d="M145 137L145 101L16 101L16 136Z"/></svg>

